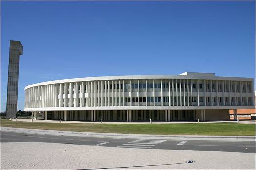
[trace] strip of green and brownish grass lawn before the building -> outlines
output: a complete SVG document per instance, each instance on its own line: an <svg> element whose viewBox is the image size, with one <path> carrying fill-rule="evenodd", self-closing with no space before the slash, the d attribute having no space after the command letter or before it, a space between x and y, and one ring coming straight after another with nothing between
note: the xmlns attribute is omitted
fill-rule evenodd
<svg viewBox="0 0 256 170"><path fill-rule="evenodd" d="M255 136L254 124L237 123L191 123L191 124L71 124L16 122L1 119L5 127L48 129L77 132L105 132L123 134L162 135L245 135Z"/></svg>

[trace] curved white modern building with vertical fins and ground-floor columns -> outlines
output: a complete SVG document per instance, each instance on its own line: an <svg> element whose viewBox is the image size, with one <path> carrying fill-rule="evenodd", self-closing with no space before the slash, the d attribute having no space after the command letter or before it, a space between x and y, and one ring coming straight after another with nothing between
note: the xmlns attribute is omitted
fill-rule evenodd
<svg viewBox="0 0 256 170"><path fill-rule="evenodd" d="M64 121L229 120L229 109L254 108L254 100L253 78L185 72L28 85L24 111L35 116L43 111L45 120Z"/></svg>

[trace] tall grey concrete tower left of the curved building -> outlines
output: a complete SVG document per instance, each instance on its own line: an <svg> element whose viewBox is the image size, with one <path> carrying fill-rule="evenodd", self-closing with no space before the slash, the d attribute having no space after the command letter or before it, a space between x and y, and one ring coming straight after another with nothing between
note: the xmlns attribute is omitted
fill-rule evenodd
<svg viewBox="0 0 256 170"><path fill-rule="evenodd" d="M16 118L18 98L18 78L20 55L23 54L23 46L20 41L10 41L9 69L7 86L6 119Z"/></svg>

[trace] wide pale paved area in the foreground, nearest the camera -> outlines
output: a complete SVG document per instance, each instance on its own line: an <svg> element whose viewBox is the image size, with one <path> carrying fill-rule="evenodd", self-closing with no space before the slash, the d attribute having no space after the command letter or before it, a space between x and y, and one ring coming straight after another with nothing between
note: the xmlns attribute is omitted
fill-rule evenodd
<svg viewBox="0 0 256 170"><path fill-rule="evenodd" d="M0 169L252 169L255 153L117 148L41 142L0 145ZM192 160L194 163L188 164Z"/></svg>

